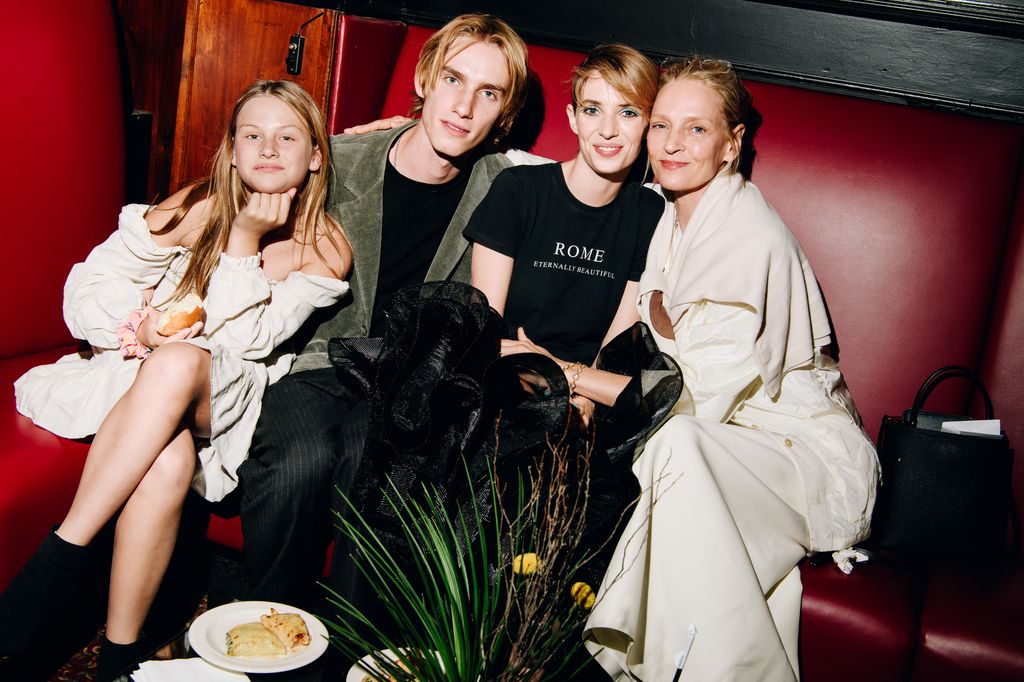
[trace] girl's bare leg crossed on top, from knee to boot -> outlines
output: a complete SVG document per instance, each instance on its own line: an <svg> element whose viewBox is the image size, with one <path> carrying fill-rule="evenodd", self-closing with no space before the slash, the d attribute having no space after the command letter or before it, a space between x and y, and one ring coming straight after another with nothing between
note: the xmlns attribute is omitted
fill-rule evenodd
<svg viewBox="0 0 1024 682"><path fill-rule="evenodd" d="M210 354L169 343L142 363L128 392L103 420L89 449L78 492L56 532L88 545L135 492L179 425L210 429Z"/></svg>

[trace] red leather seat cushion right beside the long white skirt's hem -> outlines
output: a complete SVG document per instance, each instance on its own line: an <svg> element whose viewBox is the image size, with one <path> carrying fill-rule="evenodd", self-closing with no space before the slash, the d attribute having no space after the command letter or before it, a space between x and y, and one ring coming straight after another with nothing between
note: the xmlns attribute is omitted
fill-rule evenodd
<svg viewBox="0 0 1024 682"><path fill-rule="evenodd" d="M805 682L898 682L906 678L916 633L914 576L857 564L801 564L804 598L800 663Z"/></svg>

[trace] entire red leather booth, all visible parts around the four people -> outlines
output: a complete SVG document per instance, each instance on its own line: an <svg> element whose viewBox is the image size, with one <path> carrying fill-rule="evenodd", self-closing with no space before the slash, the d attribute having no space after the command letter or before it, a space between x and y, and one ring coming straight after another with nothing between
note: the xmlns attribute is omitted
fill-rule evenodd
<svg viewBox="0 0 1024 682"><path fill-rule="evenodd" d="M34 32L41 13L47 31ZM332 130L406 113L429 34L343 16ZM109 3L74 3L59 13L18 3L0 35L4 51L31 36L36 55L8 81L17 105L0 113L5 130L25 131L8 136L18 162L7 166L16 171L7 186L19 196L8 202L13 250L0 271L9 292L0 304L8 319L0 338L8 386L0 397L2 588L62 516L81 471L85 446L17 416L10 383L72 343L58 312L61 285L71 264L116 224L123 135ZM530 47L543 108L534 102L516 139L536 138L536 154L566 159L575 148L563 112L569 69L581 56ZM753 179L814 265L867 432L877 435L883 415L909 407L932 370L958 364L982 373L1011 442L1024 442L1024 127L749 86L763 117ZM959 412L969 399L966 385L944 385L930 407ZM1024 464L1015 467L1020 502ZM241 549L238 519L215 517L209 537ZM851 576L807 564L803 579L801 660L809 682L1024 679L1019 560L971 568L862 564Z"/></svg>

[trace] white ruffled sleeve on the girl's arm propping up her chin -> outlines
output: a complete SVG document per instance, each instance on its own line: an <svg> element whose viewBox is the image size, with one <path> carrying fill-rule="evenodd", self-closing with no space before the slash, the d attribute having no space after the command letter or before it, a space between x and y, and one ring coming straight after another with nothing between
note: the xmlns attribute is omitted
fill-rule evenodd
<svg viewBox="0 0 1024 682"><path fill-rule="evenodd" d="M259 255L221 254L205 302L205 336L253 360L267 357L313 310L332 305L348 291L341 280L298 271L271 283L259 262Z"/></svg>

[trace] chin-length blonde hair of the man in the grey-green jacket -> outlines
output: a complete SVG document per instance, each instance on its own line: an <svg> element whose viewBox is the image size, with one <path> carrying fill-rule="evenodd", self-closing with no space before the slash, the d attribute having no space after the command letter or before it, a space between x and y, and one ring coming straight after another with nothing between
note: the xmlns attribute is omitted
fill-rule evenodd
<svg viewBox="0 0 1024 682"><path fill-rule="evenodd" d="M496 141L508 134L516 115L526 101L526 87L529 72L526 67L526 45L512 27L490 14L462 14L438 29L430 36L420 50L416 62L416 84L419 91L428 94L441 77L441 71L454 54L450 54L456 43L466 39L460 51L473 43L490 43L505 55L509 69L509 87L502 102L502 111L495 122L498 130ZM423 110L423 97L415 95L412 115Z"/></svg>

